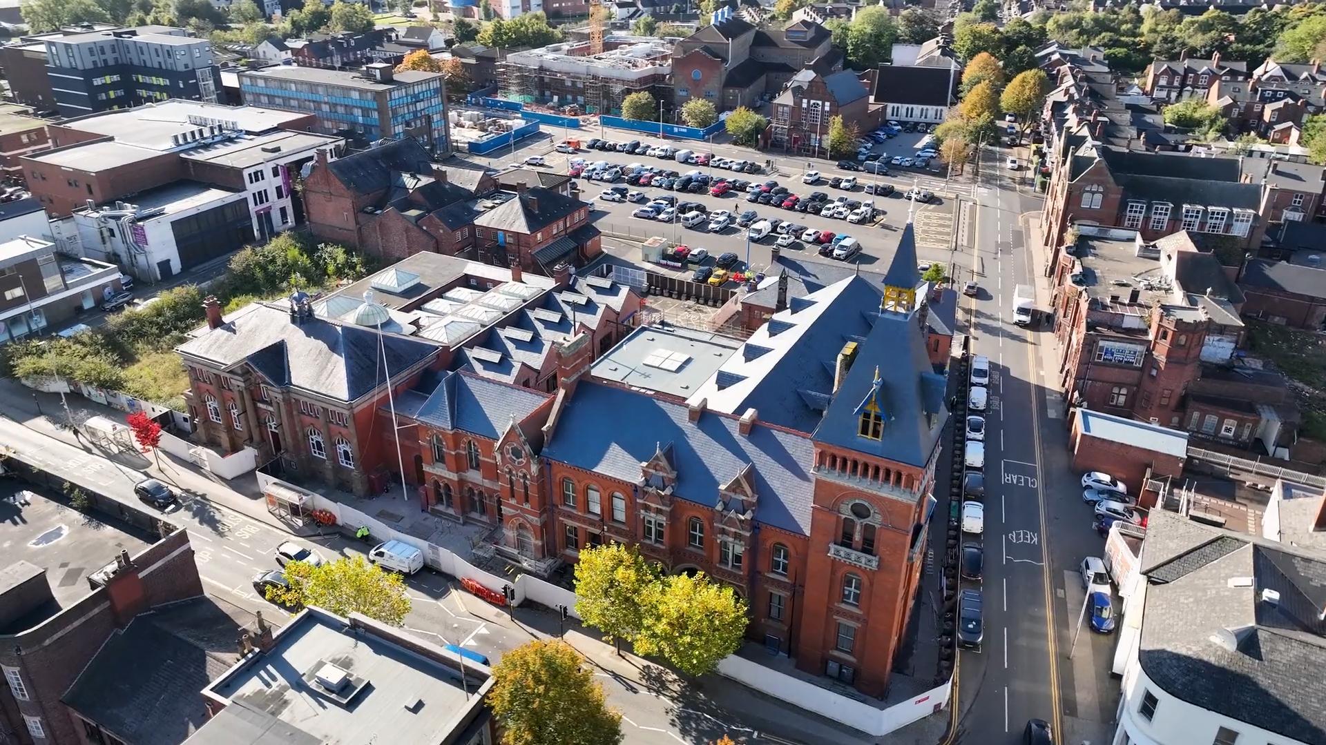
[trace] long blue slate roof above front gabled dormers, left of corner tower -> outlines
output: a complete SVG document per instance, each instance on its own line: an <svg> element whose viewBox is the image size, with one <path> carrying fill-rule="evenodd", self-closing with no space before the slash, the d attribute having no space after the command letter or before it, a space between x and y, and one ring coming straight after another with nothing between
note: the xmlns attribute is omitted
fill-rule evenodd
<svg viewBox="0 0 1326 745"><path fill-rule="evenodd" d="M687 412L680 403L581 380L544 456L634 484L640 464L663 445L676 469L676 496L711 508L719 488L751 464L756 521L809 536L810 439L758 423L741 435L733 416L705 412L692 423Z"/></svg>

